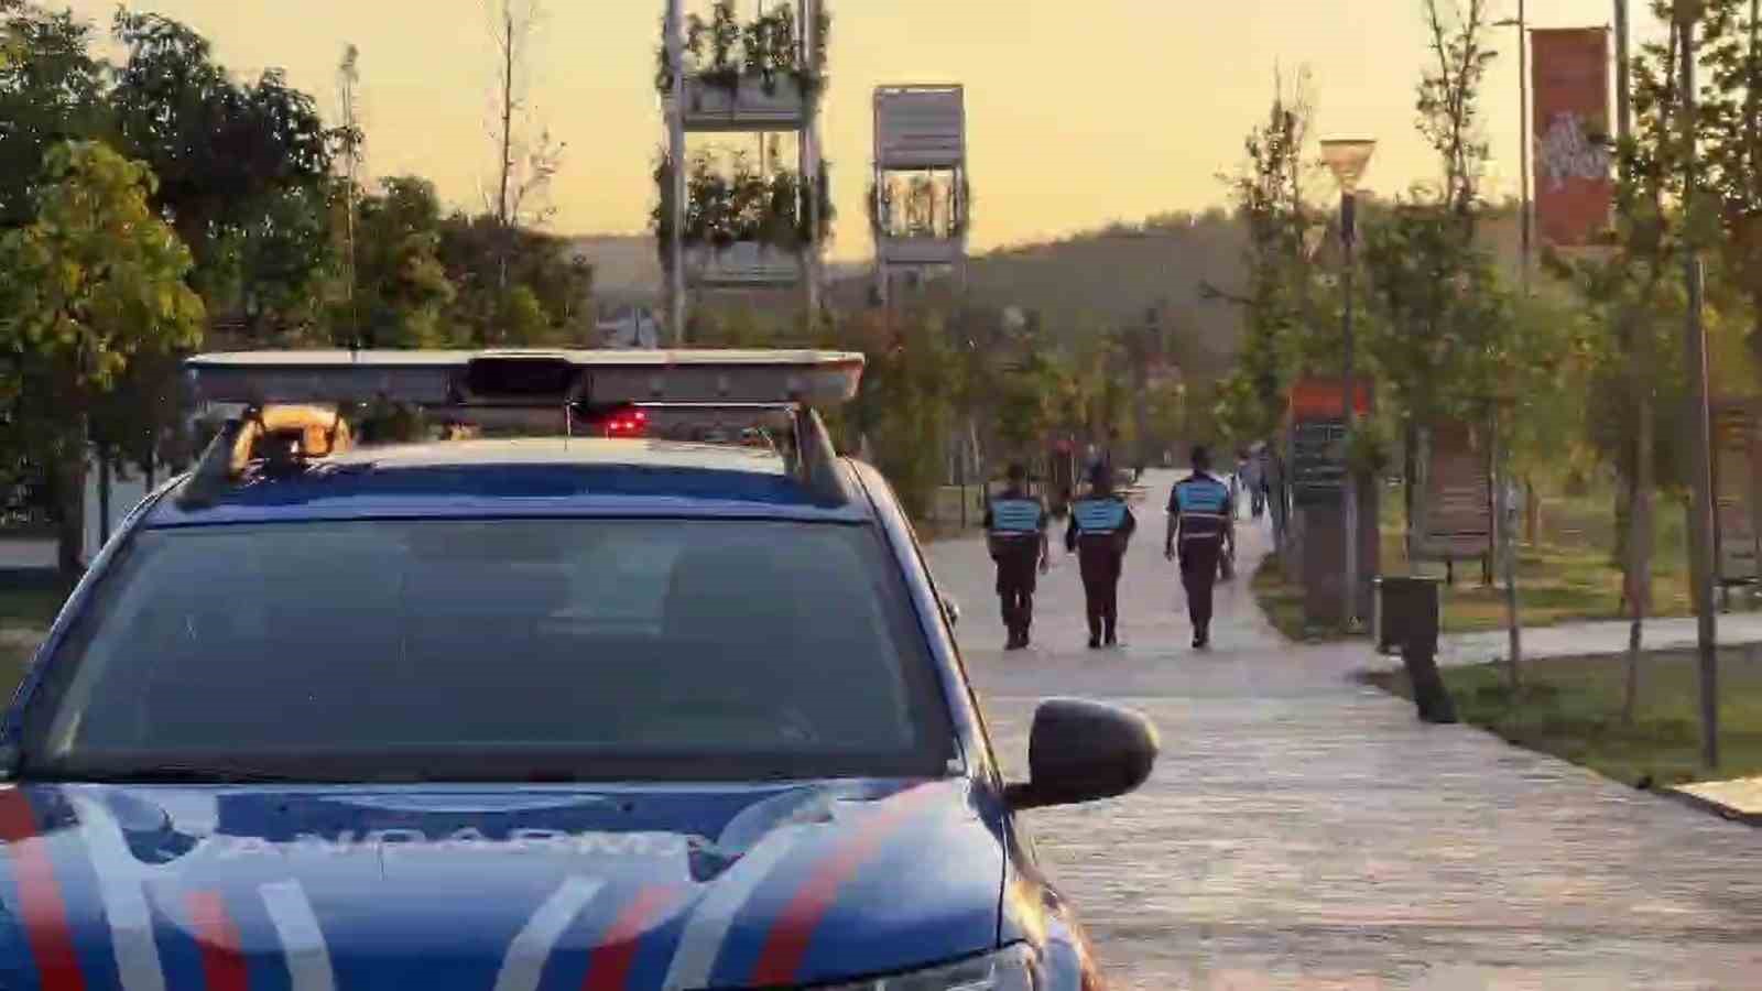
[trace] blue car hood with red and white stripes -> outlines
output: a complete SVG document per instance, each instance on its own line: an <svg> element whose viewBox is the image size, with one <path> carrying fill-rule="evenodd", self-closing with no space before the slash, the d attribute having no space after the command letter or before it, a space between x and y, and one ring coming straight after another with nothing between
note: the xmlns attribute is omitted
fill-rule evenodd
<svg viewBox="0 0 1762 991"><path fill-rule="evenodd" d="M0 987L719 989L996 947L967 781L0 790Z"/></svg>

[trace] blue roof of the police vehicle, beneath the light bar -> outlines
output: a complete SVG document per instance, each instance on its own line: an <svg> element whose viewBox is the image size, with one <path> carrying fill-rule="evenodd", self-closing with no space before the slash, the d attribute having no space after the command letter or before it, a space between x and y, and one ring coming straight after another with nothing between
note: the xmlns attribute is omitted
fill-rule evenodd
<svg viewBox="0 0 1762 991"><path fill-rule="evenodd" d="M490 439L358 448L254 469L201 506L160 499L146 527L446 517L703 517L867 522L770 450L657 439Z"/></svg>

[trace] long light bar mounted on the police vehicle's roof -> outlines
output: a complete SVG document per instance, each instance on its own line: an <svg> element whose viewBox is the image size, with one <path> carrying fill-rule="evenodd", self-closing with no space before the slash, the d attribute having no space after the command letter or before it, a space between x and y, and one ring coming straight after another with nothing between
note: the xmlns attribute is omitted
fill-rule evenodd
<svg viewBox="0 0 1762 991"><path fill-rule="evenodd" d="M201 402L391 400L432 409L587 402L832 406L863 356L840 351L238 351L185 370Z"/></svg>

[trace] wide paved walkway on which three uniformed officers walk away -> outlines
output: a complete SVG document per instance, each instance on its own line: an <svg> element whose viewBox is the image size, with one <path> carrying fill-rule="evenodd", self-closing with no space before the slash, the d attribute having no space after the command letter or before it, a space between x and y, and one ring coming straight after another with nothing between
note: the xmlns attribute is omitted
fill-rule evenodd
<svg viewBox="0 0 1762 991"><path fill-rule="evenodd" d="M1762 987L1762 834L1425 726L1355 684L1362 645L1297 647L1244 580L1195 654L1161 559L1156 474L1126 568L1126 647L1084 649L1075 561L1043 578L1036 647L999 651L983 541L930 547L1006 765L1034 704L1136 707L1163 760L1136 795L1031 813L1117 987ZM1242 573L1265 550L1242 547Z"/></svg>

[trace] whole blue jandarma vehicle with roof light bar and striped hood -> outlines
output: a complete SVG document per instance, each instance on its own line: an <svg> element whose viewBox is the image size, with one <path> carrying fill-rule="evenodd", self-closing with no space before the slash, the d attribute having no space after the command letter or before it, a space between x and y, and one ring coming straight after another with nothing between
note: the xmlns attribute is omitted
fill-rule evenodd
<svg viewBox="0 0 1762 991"><path fill-rule="evenodd" d="M189 374L224 427L4 725L0 987L1103 986L1020 813L1133 790L1156 734L1052 700L1004 778L906 517L816 414L860 356ZM310 414L388 399L552 434L374 448ZM671 402L793 437L583 427Z"/></svg>

